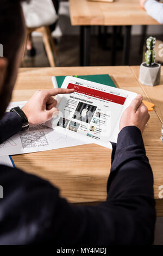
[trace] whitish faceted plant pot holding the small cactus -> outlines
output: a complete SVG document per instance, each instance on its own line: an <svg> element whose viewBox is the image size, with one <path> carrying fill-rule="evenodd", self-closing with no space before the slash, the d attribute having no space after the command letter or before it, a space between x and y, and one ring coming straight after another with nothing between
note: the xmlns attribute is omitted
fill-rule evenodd
<svg viewBox="0 0 163 256"><path fill-rule="evenodd" d="M146 66L143 62L140 65L139 81L145 86L157 86L160 83L161 65L155 63L153 66Z"/></svg>

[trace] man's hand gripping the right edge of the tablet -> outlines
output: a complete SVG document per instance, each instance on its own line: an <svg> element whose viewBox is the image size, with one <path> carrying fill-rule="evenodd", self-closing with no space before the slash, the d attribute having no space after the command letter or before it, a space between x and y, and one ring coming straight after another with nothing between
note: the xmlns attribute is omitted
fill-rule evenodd
<svg viewBox="0 0 163 256"><path fill-rule="evenodd" d="M120 120L120 131L126 126L136 126L141 133L149 120L148 108L142 103L142 95L137 95L130 106L123 112Z"/></svg>

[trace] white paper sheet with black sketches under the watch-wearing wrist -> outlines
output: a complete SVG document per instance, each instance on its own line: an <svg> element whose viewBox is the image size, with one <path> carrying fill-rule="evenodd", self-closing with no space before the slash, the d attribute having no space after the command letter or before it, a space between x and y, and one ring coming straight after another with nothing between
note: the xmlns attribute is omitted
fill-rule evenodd
<svg viewBox="0 0 163 256"><path fill-rule="evenodd" d="M7 108L23 107L26 101L11 102ZM17 155L73 147L86 144L79 139L73 138L64 133L56 132L45 125L30 126L28 130L19 132L0 144L0 156Z"/></svg>

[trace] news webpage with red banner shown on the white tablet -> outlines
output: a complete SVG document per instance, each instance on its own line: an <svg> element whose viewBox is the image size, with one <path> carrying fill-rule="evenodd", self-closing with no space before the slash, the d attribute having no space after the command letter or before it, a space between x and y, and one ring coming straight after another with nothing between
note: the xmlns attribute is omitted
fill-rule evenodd
<svg viewBox="0 0 163 256"><path fill-rule="evenodd" d="M53 124L108 143L127 95L106 86L93 87L71 81L67 88L75 92L61 100L59 118Z"/></svg>

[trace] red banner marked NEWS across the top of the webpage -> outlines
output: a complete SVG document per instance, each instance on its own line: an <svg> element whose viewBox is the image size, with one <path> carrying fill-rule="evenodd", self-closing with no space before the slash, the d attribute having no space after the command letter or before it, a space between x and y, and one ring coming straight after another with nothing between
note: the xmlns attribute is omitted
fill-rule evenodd
<svg viewBox="0 0 163 256"><path fill-rule="evenodd" d="M98 99L111 101L111 102L118 103L118 104L121 104L121 105L123 105L124 101L126 100L126 97L121 97L121 96L118 96L118 95L101 92L99 90L94 90L94 89L91 89L91 88L78 86L77 84L73 84L73 83L69 83L67 88L68 89L75 89L75 92L77 92L77 93L83 93L87 96L97 97Z"/></svg>

